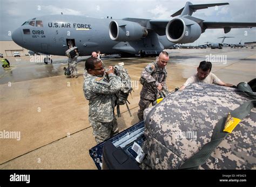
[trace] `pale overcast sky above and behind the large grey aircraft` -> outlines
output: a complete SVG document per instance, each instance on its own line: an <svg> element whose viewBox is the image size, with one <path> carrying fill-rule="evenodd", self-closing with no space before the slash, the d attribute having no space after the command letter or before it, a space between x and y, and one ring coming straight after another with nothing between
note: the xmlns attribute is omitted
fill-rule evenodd
<svg viewBox="0 0 256 187"><path fill-rule="evenodd" d="M63 12L65 15L95 18L112 16L113 19L132 17L170 20L172 13L183 8L186 3L183 0L0 0L0 2L0 40L12 40L9 34L10 31L14 31L15 28L21 26L26 20L38 16L55 15ZM219 6L218 10L212 7L193 13L192 16L203 20L256 22L255 0L191 0L190 2L193 4L230 3L230 5ZM248 41L256 41L256 28L234 28L227 34L224 33L223 29L206 30L193 45L203 44L206 41L221 42L221 39L217 38L224 35L235 37L225 39L227 43L237 44L242 40L243 44Z"/></svg>

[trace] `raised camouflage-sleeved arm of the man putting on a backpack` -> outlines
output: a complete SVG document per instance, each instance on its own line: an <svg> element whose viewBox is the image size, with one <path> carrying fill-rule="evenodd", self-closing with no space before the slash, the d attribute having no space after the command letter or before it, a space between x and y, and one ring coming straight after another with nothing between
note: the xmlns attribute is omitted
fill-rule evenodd
<svg viewBox="0 0 256 187"><path fill-rule="evenodd" d="M96 78L93 82L92 88L94 93L101 93L106 95L112 95L117 93L122 86L121 78L114 75L113 73L109 74L109 80L103 77Z"/></svg>

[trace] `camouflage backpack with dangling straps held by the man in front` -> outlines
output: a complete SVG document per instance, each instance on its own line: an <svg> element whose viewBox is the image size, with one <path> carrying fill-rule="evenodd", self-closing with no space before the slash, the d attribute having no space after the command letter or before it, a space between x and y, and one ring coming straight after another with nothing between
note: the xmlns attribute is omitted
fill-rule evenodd
<svg viewBox="0 0 256 187"><path fill-rule="evenodd" d="M127 103L129 103L127 98L129 96L129 93L131 93L132 91L131 78L128 74L128 71L123 66L116 65L114 66L114 74L121 78L122 84L123 84L122 87L120 88L120 91L117 93L116 105L117 105L118 117L121 116L119 106L124 104L126 104L126 107L130 113L130 116L132 116L129 106L127 105Z"/></svg>

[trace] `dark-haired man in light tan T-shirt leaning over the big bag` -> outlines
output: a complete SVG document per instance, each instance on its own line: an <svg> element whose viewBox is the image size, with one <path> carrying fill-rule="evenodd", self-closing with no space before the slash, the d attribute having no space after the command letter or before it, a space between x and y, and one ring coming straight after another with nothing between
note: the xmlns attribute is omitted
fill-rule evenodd
<svg viewBox="0 0 256 187"><path fill-rule="evenodd" d="M232 84L222 82L216 75L211 73L212 63L207 61L201 61L197 68L197 74L188 78L187 81L180 87L180 91L187 87L188 84L202 82L207 84L217 84L225 87L233 87Z"/></svg>

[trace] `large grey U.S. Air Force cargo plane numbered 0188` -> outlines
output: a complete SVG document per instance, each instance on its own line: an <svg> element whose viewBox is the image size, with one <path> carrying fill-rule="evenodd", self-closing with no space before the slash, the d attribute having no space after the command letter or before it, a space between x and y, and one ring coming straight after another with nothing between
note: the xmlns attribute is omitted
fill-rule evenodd
<svg viewBox="0 0 256 187"><path fill-rule="evenodd" d="M105 54L158 55L175 44L196 41L207 28L255 27L256 23L205 21L192 13L228 3L192 4L172 15L171 20L139 18L98 19L71 15L50 15L29 19L12 33L12 39L36 53L65 55L70 46L79 48L79 55L100 50Z"/></svg>

